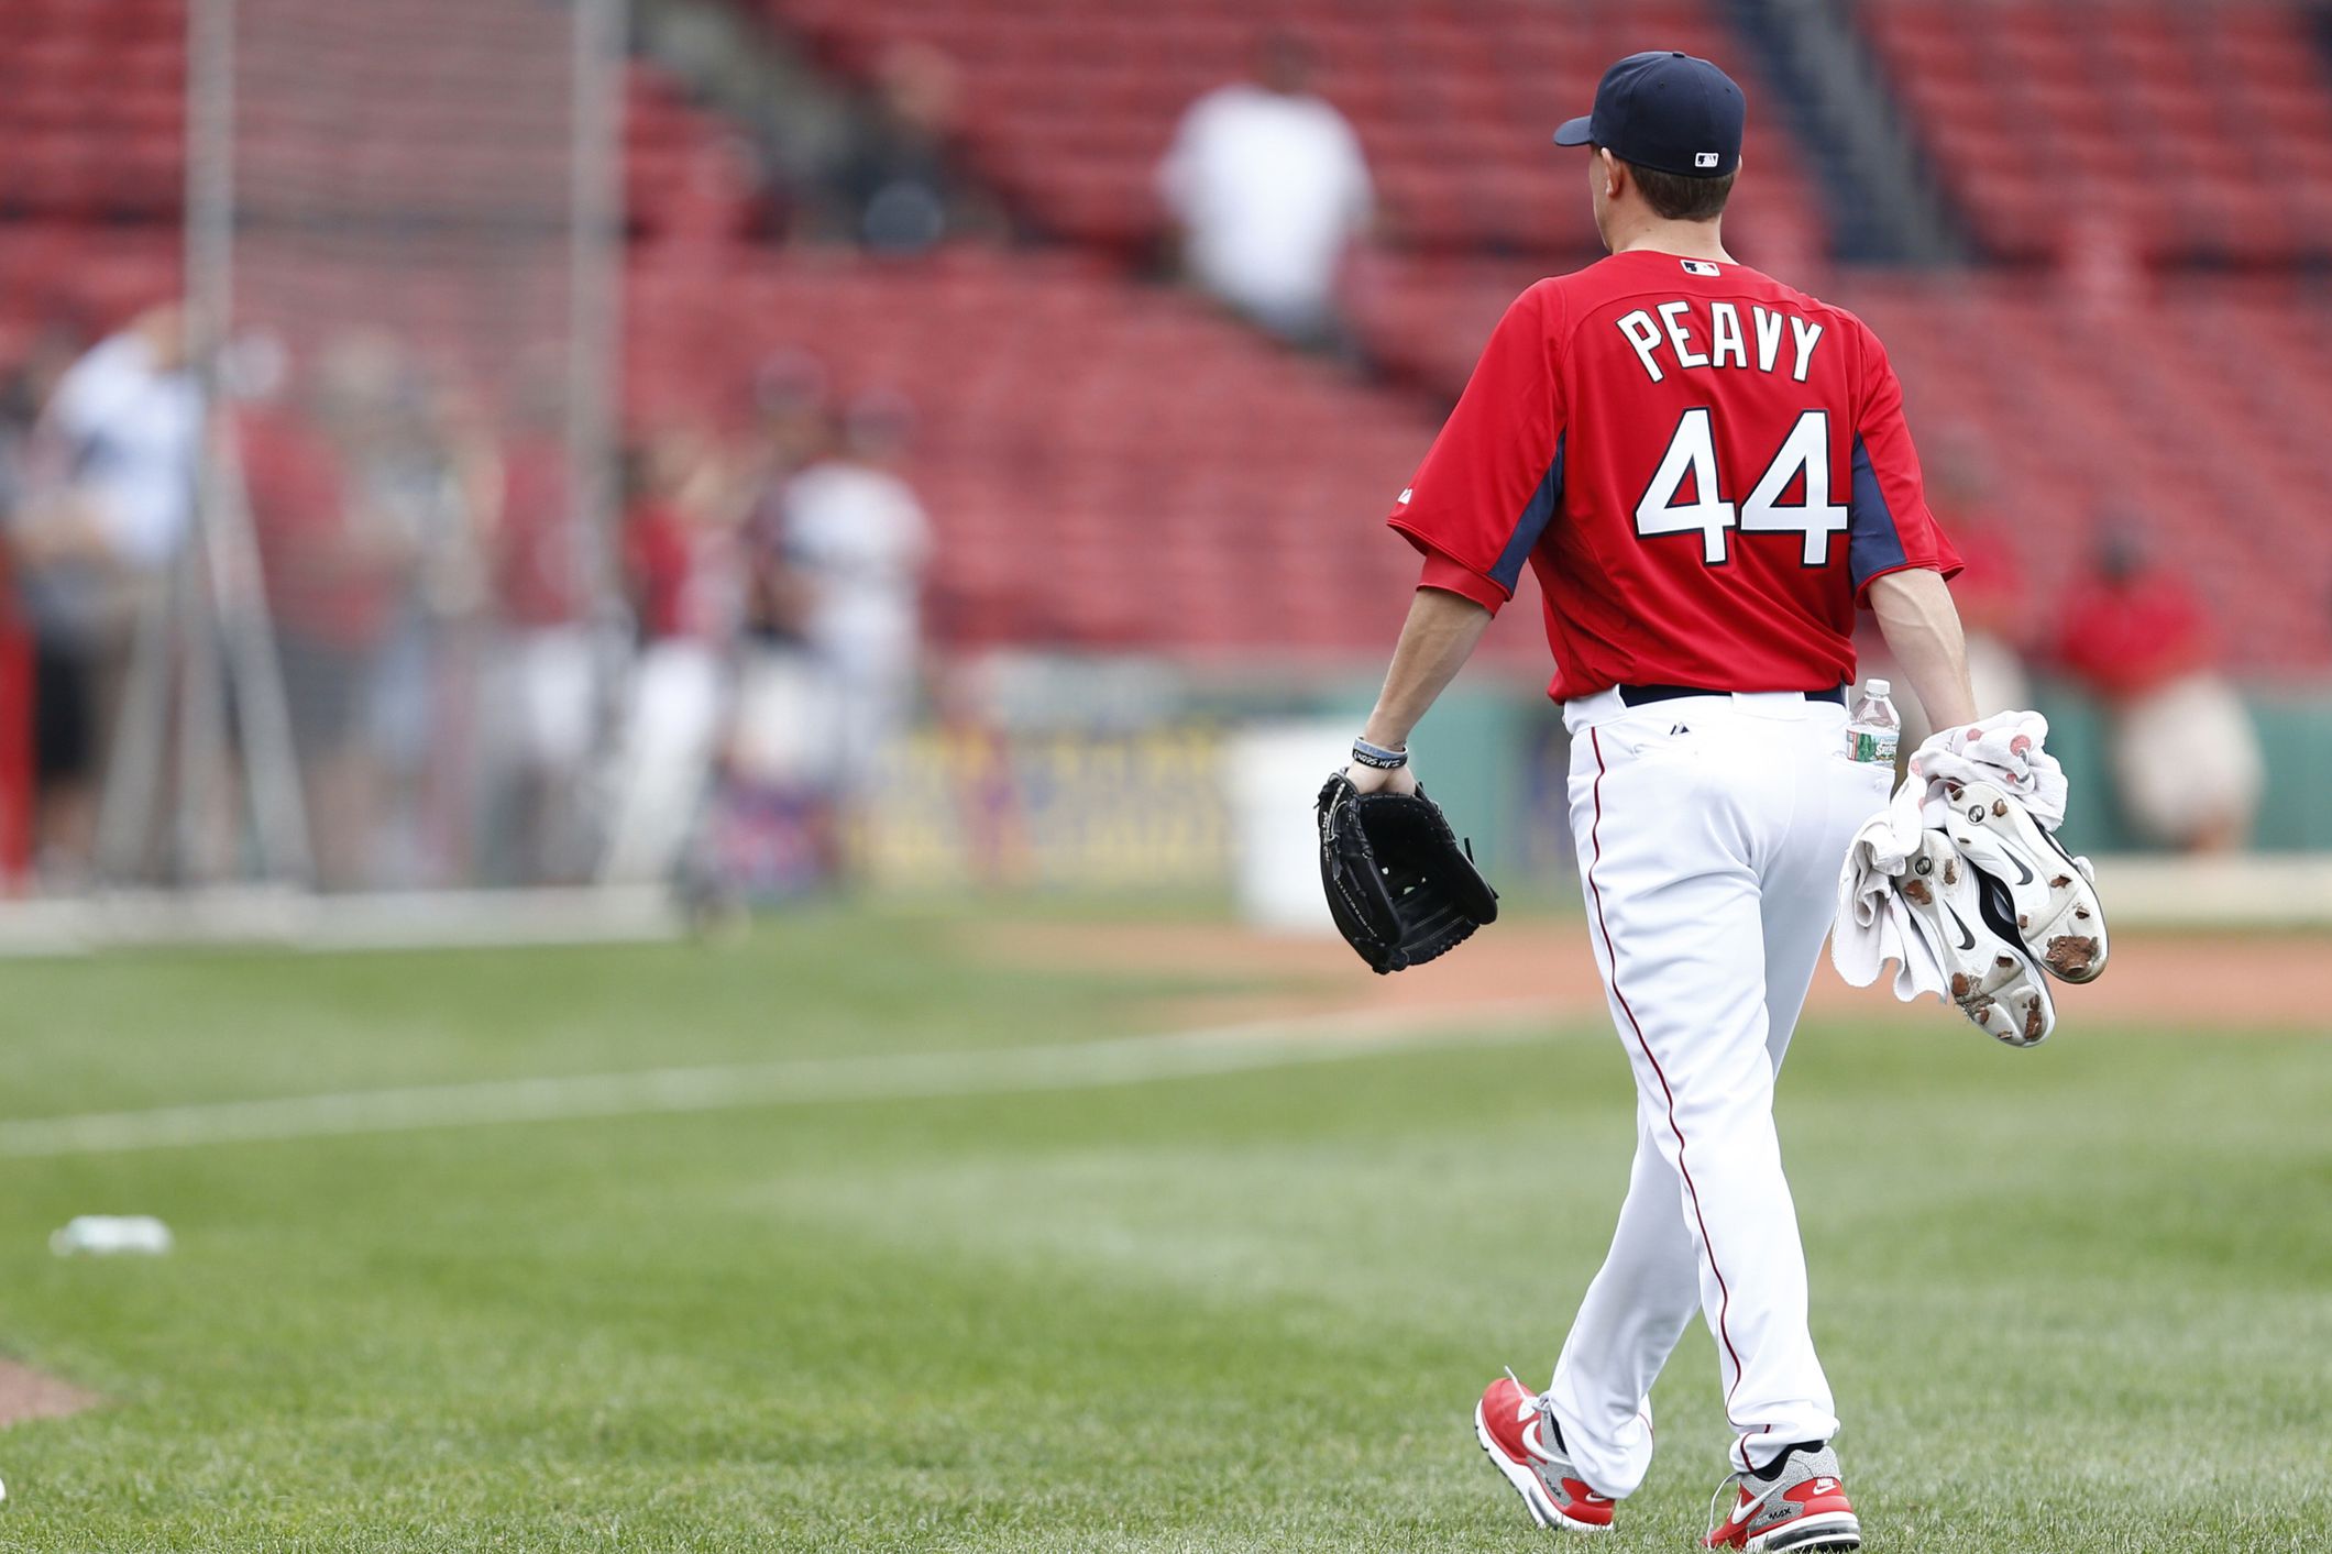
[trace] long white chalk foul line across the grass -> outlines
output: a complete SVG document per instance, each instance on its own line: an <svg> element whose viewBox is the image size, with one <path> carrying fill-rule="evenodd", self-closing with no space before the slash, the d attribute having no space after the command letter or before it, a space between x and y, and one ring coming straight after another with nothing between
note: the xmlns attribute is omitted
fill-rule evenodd
<svg viewBox="0 0 2332 1554"><path fill-rule="evenodd" d="M1059 1046L793 1058L229 1100L147 1111L91 1111L0 1121L0 1158L319 1139L420 1128L492 1128L660 1111L1091 1090L1154 1079L1341 1062L1420 1046L1506 1046L1551 1034L1558 1013L1546 999L1460 1006L1425 1020L1413 1011L1346 1011Z"/></svg>

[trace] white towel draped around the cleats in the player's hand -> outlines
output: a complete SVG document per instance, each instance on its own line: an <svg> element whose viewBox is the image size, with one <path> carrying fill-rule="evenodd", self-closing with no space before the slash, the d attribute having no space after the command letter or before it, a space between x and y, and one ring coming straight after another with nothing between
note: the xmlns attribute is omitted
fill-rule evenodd
<svg viewBox="0 0 2332 1554"><path fill-rule="evenodd" d="M1854 832L1847 862L1838 871L1838 920L1831 925L1831 965L1856 988L1868 988L1896 962L1894 995L1910 1002L1922 993L1945 997L1947 974L1929 941L1908 927L1910 909L1894 890L1894 876L1919 850L1919 834L1940 827L1945 783L1996 783L2057 829L2064 820L2064 767L2047 753L2047 718L1999 713L1945 729L1910 757L1910 776L1894 799Z"/></svg>

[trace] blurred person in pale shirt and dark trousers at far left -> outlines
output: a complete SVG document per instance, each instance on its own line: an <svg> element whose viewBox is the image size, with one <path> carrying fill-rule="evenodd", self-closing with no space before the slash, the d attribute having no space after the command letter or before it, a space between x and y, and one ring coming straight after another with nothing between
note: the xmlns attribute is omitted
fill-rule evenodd
<svg viewBox="0 0 2332 1554"><path fill-rule="evenodd" d="M110 713L140 601L187 538L201 426L187 315L170 303L65 368L21 447L9 541L35 641L37 834L51 881L91 862Z"/></svg>

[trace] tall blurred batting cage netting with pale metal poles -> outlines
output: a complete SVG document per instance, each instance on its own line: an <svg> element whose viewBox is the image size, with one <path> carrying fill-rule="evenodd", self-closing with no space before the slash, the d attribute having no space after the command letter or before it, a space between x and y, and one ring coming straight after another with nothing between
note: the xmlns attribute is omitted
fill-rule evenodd
<svg viewBox="0 0 2332 1554"><path fill-rule="evenodd" d="M623 26L623 0L189 0L208 436L105 878L595 876Z"/></svg>

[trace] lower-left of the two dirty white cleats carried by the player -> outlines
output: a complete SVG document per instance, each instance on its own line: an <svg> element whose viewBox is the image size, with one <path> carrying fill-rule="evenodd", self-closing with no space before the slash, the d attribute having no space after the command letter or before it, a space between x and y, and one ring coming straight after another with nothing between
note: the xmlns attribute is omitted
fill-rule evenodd
<svg viewBox="0 0 2332 1554"><path fill-rule="evenodd" d="M2015 930L2006 885L1971 867L1943 832L1919 834L1894 885L1964 1016L2008 1046L2038 1046L2057 1030L2057 1002Z"/></svg>

